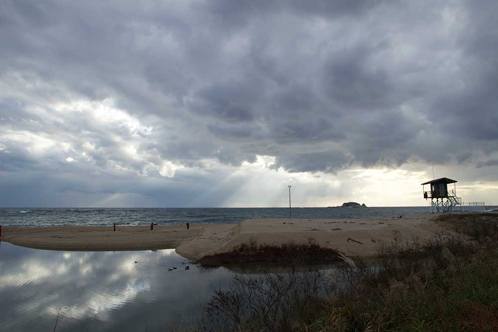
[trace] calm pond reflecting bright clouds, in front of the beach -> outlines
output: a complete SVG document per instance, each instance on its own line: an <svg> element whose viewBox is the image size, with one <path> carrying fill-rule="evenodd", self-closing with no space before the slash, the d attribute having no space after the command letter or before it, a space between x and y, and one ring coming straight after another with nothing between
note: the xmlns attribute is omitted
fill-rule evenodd
<svg viewBox="0 0 498 332"><path fill-rule="evenodd" d="M174 249L70 252L1 242L0 331L53 331L57 314L58 332L176 330L234 273L200 268Z"/></svg>

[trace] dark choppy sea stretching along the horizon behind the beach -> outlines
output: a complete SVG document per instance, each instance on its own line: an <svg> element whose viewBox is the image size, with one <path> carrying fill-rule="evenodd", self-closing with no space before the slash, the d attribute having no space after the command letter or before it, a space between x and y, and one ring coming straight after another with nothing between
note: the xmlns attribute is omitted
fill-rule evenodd
<svg viewBox="0 0 498 332"><path fill-rule="evenodd" d="M390 218L428 213L430 207L293 208L293 218ZM288 218L288 208L0 208L3 226L138 225L237 223L246 219Z"/></svg>

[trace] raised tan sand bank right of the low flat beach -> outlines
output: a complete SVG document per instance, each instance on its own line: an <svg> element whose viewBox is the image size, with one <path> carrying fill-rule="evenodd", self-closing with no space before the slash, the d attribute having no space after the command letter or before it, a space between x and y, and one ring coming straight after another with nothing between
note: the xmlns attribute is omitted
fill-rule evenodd
<svg viewBox="0 0 498 332"><path fill-rule="evenodd" d="M374 257L378 241L392 241L394 230L401 241L423 241L435 232L455 234L434 221L435 215L375 219L254 219L213 234L206 231L184 242L176 251L191 259L229 252L241 243L279 245L289 241L308 243L313 238L322 247L336 249L347 256Z"/></svg>

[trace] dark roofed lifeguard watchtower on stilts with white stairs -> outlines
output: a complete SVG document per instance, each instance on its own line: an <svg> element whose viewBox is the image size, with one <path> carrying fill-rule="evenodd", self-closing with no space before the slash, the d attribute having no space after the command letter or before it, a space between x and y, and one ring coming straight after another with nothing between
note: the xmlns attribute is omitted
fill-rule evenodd
<svg viewBox="0 0 498 332"><path fill-rule="evenodd" d="M448 193L448 185L453 183L451 193ZM424 198L431 200L431 212L453 212L456 205L462 204L462 199L457 197L456 180L440 178L422 183ZM425 191L424 186L431 185L431 191Z"/></svg>

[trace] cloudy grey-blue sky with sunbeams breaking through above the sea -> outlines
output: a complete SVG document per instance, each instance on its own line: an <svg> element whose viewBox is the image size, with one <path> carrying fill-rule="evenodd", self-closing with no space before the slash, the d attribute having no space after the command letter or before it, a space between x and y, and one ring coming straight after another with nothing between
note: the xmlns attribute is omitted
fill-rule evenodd
<svg viewBox="0 0 498 332"><path fill-rule="evenodd" d="M498 2L0 2L0 206L498 205Z"/></svg>

